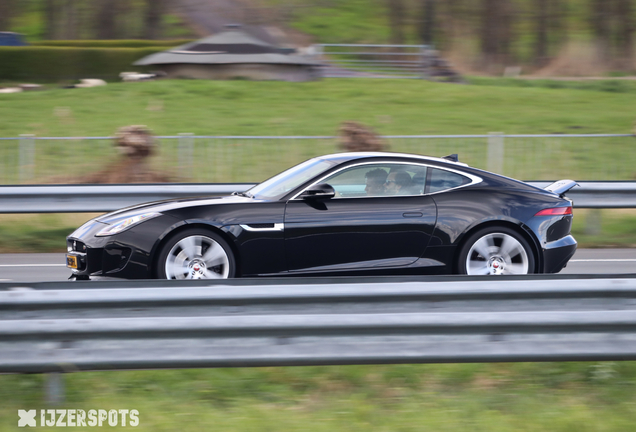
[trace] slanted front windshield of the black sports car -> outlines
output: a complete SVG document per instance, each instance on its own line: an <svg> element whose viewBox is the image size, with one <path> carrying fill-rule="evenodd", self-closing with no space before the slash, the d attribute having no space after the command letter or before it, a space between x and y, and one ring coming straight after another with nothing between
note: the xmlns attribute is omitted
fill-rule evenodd
<svg viewBox="0 0 636 432"><path fill-rule="evenodd" d="M269 180L265 180L247 191L247 193L257 199L279 199L307 180L327 171L335 164L335 162L323 159L310 159L287 171L283 171Z"/></svg>

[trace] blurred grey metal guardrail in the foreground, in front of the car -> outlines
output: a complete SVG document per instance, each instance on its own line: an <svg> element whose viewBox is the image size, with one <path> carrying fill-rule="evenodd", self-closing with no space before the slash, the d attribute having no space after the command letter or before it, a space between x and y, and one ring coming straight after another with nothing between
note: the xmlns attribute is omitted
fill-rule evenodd
<svg viewBox="0 0 636 432"><path fill-rule="evenodd" d="M634 276L0 284L0 372L634 360Z"/></svg>

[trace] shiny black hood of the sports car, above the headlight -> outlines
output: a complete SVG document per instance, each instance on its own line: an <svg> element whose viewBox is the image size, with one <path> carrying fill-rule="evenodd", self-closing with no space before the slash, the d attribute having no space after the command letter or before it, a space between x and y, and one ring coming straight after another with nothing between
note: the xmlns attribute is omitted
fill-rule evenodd
<svg viewBox="0 0 636 432"><path fill-rule="evenodd" d="M153 201L149 203L138 204L130 207L126 207L120 210L116 210L111 213L106 213L102 216L95 218L97 222L112 223L121 219L139 215L143 213L163 213L170 210L182 209L188 207L197 206L209 206L219 204L244 204L247 202L256 202L253 198L247 198L242 196L222 196L222 197L193 197L193 198L175 198L164 201Z"/></svg>

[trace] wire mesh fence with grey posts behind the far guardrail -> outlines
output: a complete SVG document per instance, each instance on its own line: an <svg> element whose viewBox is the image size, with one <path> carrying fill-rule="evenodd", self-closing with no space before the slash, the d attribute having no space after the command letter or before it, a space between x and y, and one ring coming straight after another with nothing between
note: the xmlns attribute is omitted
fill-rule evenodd
<svg viewBox="0 0 636 432"><path fill-rule="evenodd" d="M259 182L314 156L343 151L333 136L157 137L150 167L174 182ZM389 151L457 153L461 162L522 180L635 180L633 135L385 136ZM111 137L0 138L1 184L78 183L121 156Z"/></svg>

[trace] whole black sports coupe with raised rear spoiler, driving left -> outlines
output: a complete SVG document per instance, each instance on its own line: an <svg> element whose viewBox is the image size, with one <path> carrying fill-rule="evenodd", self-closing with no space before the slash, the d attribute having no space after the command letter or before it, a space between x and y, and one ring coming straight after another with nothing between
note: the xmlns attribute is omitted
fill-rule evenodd
<svg viewBox="0 0 636 432"><path fill-rule="evenodd" d="M455 157L453 157L455 156ZM446 158L338 153L224 197L142 204L67 238L78 279L559 272L576 185L539 189Z"/></svg>

